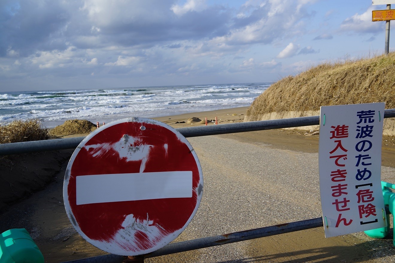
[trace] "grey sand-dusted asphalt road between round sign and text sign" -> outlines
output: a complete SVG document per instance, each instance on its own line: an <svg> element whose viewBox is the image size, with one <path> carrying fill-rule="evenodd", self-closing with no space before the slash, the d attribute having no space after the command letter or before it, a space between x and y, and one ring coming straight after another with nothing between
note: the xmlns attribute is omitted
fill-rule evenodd
<svg viewBox="0 0 395 263"><path fill-rule="evenodd" d="M273 149L265 144L243 143L221 136L203 136L188 140L202 166L203 198L192 222L176 241L321 216L318 153ZM384 167L383 177L393 179L394 172L395 169ZM145 259L145 262L296 263L394 260L395 249L391 239L372 242L363 233L325 239L322 228L304 232L297 236L299 240L288 240L287 238L295 237L284 234L285 237L278 235L274 239L265 237L237 242ZM273 254L270 255L273 251L281 256L273 257ZM301 255L301 251L305 251L303 253L307 256ZM299 256L295 256L298 253Z"/></svg>

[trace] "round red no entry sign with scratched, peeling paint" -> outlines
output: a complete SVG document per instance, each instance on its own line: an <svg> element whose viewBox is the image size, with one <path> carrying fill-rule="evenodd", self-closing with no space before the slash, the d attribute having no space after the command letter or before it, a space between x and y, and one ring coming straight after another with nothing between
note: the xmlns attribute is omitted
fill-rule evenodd
<svg viewBox="0 0 395 263"><path fill-rule="evenodd" d="M71 156L63 185L71 224L94 246L135 256L173 241L203 190L198 157L172 127L145 118L113 121Z"/></svg>

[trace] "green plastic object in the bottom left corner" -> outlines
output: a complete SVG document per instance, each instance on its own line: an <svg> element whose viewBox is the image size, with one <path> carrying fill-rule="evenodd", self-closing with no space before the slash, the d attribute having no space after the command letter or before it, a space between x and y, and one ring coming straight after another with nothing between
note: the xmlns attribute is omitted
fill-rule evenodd
<svg viewBox="0 0 395 263"><path fill-rule="evenodd" d="M24 228L0 235L0 263L44 263L43 254Z"/></svg>

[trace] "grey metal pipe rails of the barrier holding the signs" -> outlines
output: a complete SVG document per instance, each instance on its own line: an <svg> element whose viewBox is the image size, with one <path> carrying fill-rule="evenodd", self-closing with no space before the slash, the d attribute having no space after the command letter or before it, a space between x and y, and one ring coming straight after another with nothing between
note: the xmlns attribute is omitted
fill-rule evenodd
<svg viewBox="0 0 395 263"><path fill-rule="evenodd" d="M394 118L394 117L395 117L395 109L385 110L384 118ZM319 125L319 122L320 122L319 116L312 116L312 117L300 117L300 118L290 118L290 119L275 119L275 120L267 120L267 121L251 121L245 123L232 123L232 124L221 124L221 125L211 125L211 126L187 127L187 128L179 128L176 130L179 131L184 137L197 137L197 136L207 136L207 135L236 133L236 132L303 127L310 125ZM77 137L77 138L65 138L65 139L56 139L56 140L0 144L0 155L31 153L37 151L74 149L79 145L80 142L82 142L84 138L85 137ZM264 228L249 229L245 231L233 232L224 235L217 235L213 237L204 237L201 239L171 243L171 244L167 244L163 248L160 248L154 252L136 257L125 257L125 256L117 256L117 255L109 254L109 255L98 256L98 257L77 259L73 261L68 261L67 263L120 263L125 260L127 262L143 262L144 258L163 256L168 254L185 252L189 250L195 250L199 248L207 248L211 246L218 246L218 245L228 244L233 242L246 241L249 239L278 235L282 233L289 233L289 232L305 230L310 228L318 228L322 226L323 226L322 218L319 217L319 218L307 219L297 222L290 222L286 224L279 224L275 226L268 226Z"/></svg>

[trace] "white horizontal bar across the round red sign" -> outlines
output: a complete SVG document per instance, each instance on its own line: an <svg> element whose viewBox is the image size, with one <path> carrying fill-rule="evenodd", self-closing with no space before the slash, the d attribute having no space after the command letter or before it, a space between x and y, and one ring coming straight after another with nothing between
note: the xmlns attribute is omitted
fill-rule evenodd
<svg viewBox="0 0 395 263"><path fill-rule="evenodd" d="M192 197L192 171L80 175L77 205Z"/></svg>

